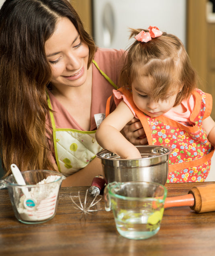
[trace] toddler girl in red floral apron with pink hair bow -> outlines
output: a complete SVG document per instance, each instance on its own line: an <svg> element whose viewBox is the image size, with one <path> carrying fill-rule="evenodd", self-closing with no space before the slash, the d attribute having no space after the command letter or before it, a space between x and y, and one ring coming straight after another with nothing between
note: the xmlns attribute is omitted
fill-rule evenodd
<svg viewBox="0 0 215 256"><path fill-rule="evenodd" d="M169 146L167 182L204 181L215 144L210 117L212 97L197 89L196 73L182 42L157 27L132 29L135 41L127 51L116 110L96 132L97 142L121 158L141 158L121 129L133 117L145 130L149 145Z"/></svg>

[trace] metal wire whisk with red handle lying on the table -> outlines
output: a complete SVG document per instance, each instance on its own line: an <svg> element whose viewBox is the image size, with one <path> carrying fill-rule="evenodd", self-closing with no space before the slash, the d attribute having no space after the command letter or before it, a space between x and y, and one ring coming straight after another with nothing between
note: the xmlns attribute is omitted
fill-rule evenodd
<svg viewBox="0 0 215 256"><path fill-rule="evenodd" d="M88 214L93 214L100 210L97 209L96 204L102 199L102 196L99 198L98 196L100 194L100 190L104 187L104 184L104 177L102 175L98 175L94 177L91 187L86 190L84 200L82 200L80 196L80 191L78 191L78 202L75 202L73 197L70 196L74 204L74 208L81 211L80 219L84 216L84 219L86 220ZM94 206L95 208L93 208Z"/></svg>

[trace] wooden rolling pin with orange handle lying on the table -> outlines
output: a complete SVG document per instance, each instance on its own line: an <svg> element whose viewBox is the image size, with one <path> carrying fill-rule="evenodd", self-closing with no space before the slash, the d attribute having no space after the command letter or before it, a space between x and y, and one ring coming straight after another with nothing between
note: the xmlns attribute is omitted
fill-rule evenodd
<svg viewBox="0 0 215 256"><path fill-rule="evenodd" d="M190 206L198 213L215 211L215 184L193 187L187 195L167 197L164 208Z"/></svg>

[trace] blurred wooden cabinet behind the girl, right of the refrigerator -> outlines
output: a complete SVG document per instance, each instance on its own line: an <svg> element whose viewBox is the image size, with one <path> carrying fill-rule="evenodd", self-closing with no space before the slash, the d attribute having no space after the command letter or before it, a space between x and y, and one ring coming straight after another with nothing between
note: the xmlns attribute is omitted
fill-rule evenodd
<svg viewBox="0 0 215 256"><path fill-rule="evenodd" d="M213 97L215 120L215 19L208 19L208 2L187 0L187 52L200 77L199 87Z"/></svg>

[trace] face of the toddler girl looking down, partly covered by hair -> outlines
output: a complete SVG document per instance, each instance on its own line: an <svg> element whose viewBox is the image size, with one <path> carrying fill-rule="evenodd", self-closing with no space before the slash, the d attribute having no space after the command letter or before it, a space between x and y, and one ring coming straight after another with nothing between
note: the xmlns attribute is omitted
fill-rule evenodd
<svg viewBox="0 0 215 256"><path fill-rule="evenodd" d="M152 100L152 79L142 76L141 79L133 79L131 83L133 101L137 108L150 117L159 117L168 112L175 104L178 88L171 91L166 100L158 102Z"/></svg>

